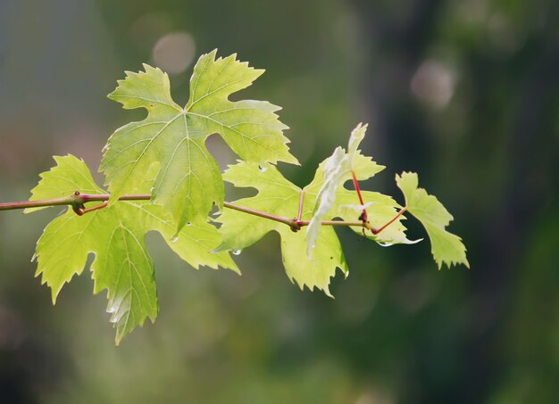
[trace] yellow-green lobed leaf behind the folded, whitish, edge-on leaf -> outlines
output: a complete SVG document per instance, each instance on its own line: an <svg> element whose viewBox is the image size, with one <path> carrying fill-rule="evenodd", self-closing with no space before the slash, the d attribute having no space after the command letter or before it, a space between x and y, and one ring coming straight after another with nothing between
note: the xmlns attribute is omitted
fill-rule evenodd
<svg viewBox="0 0 559 404"><path fill-rule="evenodd" d="M363 159L365 159L362 156ZM374 164L369 161L370 164ZM303 208L301 210L302 220L310 220L313 217L313 207L321 186L323 185L321 163L317 170L313 182L303 189ZM360 163L363 172L370 172L371 167L366 167L364 161ZM360 172L360 175L363 175ZM238 164L229 166L223 174L223 178L238 187L254 187L258 194L250 198L244 198L233 202L235 205L242 206L251 210L263 211L281 218L296 218L301 199L301 188L289 182L280 174L275 166L264 164L261 167L254 163L239 161ZM386 223L396 214L397 203L392 198L378 194L366 193L366 197L375 207L375 219ZM346 213L338 212L339 207L344 204L356 202L357 196L354 192L342 189L336 194L336 203L330 212L324 215L327 218L348 217ZM356 219L358 215L355 215ZM321 229L313 249L313 258L309 259L306 254L305 232L293 232L284 223L273 221L259 216L248 215L238 210L224 210L217 218L221 223L220 233L223 241L216 251L242 250L247 246L260 240L263 235L271 231L276 231L281 238L281 253L286 273L292 282L296 282L303 290L314 287L324 291L331 296L329 285L330 277L336 275L336 269L340 268L347 276L348 268L344 252L338 240L338 235L330 226ZM394 239L405 239L405 227L396 220L387 229L389 241ZM356 231L361 231L361 227L356 227Z"/></svg>

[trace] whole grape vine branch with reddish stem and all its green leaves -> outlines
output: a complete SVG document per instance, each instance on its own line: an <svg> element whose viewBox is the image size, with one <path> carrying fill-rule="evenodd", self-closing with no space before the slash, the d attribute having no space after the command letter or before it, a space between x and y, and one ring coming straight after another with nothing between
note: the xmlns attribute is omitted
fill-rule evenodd
<svg viewBox="0 0 559 404"><path fill-rule="evenodd" d="M236 54L203 54L182 107L172 99L162 70L144 64L144 70L127 71L109 98L147 114L109 137L99 167L106 187L96 184L83 160L55 156L56 165L39 175L29 201L0 203L0 210L24 212L68 206L46 226L34 256L36 275L50 287L53 302L94 254L94 293L107 291L116 343L146 318L153 322L159 306L154 264L144 240L150 231L160 233L193 268L228 268L239 274L230 254L277 232L289 279L302 290L316 288L332 297L330 278L338 269L349 273L333 227L348 227L383 246L417 243L421 239L405 235L408 212L425 228L439 269L456 264L469 268L462 240L446 230L452 215L419 187L417 174L396 175L404 205L389 195L361 190L359 181L384 169L359 150L367 125L357 125L347 147L339 146L321 162L310 184L301 188L288 181L276 164L298 161L283 135L288 127L276 114L280 107L229 100L262 74L239 62ZM205 146L213 134L238 155L224 172ZM257 193L225 201L224 181ZM350 181L353 189L346 188ZM219 215L211 218L214 207Z"/></svg>

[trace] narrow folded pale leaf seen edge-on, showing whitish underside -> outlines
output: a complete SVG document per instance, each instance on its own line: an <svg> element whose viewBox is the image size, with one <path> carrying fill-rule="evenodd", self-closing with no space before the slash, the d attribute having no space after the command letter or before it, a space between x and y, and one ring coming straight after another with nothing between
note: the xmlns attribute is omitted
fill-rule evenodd
<svg viewBox="0 0 559 404"><path fill-rule="evenodd" d="M307 255L309 258L312 257L313 248L321 230L322 218L334 206L336 193L340 186L352 177L352 172L359 173L360 179L368 179L384 169L384 166L363 158L363 155L357 150L366 131L367 125L362 123L357 125L349 136L347 152L342 147L336 148L321 168L323 183L314 204L313 218L306 229Z"/></svg>

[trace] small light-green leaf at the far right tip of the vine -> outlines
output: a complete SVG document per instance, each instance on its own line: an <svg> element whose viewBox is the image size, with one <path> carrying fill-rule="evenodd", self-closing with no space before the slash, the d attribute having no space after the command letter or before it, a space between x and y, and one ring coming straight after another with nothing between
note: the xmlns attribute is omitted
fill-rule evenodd
<svg viewBox="0 0 559 404"><path fill-rule="evenodd" d="M443 264L448 268L454 264L463 264L470 268L462 239L445 229L453 220L452 215L435 196L427 194L423 188L418 188L418 184L416 173L404 172L401 176L396 175L396 185L405 196L407 210L421 221L429 235L431 253L438 269L442 268Z"/></svg>

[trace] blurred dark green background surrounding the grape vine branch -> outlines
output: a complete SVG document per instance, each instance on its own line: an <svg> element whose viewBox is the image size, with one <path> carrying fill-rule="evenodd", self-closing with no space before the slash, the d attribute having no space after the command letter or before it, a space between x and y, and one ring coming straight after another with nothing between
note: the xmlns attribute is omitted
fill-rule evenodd
<svg viewBox="0 0 559 404"><path fill-rule="evenodd" d="M1 202L28 199L52 155L96 169L142 116L106 99L124 70L162 67L186 103L193 63L217 47L267 70L242 95L284 108L303 164L281 165L287 177L305 185L370 122L363 151L388 169L367 186L401 201L394 174L419 172L471 262L438 271L429 243L383 249L342 229L351 276L332 301L290 284L278 235L243 251L236 276L188 268L152 234L160 315L115 348L88 272L56 307L33 277L59 209L3 212L0 401L558 402L558 6L0 1Z"/></svg>

